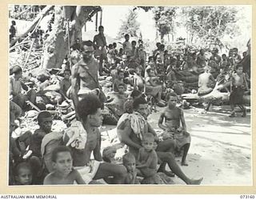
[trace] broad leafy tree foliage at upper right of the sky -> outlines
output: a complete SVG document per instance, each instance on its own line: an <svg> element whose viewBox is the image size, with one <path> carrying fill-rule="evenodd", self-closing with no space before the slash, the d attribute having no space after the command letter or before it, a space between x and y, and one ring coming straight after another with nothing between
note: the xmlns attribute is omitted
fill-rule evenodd
<svg viewBox="0 0 256 200"><path fill-rule="evenodd" d="M238 10L230 6L184 7L186 29L201 42L221 44L224 34L235 34Z"/></svg>

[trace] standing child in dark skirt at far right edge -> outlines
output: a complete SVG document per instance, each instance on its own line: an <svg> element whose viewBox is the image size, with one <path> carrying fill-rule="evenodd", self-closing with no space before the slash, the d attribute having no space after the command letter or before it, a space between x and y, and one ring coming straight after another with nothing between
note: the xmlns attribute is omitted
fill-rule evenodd
<svg viewBox="0 0 256 200"><path fill-rule="evenodd" d="M243 94L248 90L246 74L242 73L242 66L236 66L236 73L232 74L232 91L230 93L230 118L235 117L234 107L238 105L242 110L242 118L246 117L246 107L243 105Z"/></svg>

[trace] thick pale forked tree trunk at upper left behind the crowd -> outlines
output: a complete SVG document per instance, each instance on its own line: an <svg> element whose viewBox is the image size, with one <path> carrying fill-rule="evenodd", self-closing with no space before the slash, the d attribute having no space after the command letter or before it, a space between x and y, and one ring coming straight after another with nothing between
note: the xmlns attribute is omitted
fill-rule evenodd
<svg viewBox="0 0 256 200"><path fill-rule="evenodd" d="M77 38L82 40L82 26L97 11L98 6L55 6L54 26L46 39L41 62L43 69L61 68L68 53L68 41L71 46ZM67 26L71 26L69 33ZM49 52L51 48L53 53Z"/></svg>

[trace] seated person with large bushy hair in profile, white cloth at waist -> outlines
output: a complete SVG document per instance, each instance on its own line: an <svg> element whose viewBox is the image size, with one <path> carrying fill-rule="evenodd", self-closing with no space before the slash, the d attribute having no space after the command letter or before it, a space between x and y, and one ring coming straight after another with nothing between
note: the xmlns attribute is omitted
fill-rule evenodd
<svg viewBox="0 0 256 200"><path fill-rule="evenodd" d="M101 134L98 127L102 125L103 118L101 102L95 94L85 94L85 98L78 102L78 116L81 118L81 133L86 134L85 144L64 141L66 146L71 147L74 169L78 170L86 183L101 178L108 183L124 183L127 173L125 166L102 162ZM77 144L81 148L76 148ZM94 160L90 159L92 153Z"/></svg>

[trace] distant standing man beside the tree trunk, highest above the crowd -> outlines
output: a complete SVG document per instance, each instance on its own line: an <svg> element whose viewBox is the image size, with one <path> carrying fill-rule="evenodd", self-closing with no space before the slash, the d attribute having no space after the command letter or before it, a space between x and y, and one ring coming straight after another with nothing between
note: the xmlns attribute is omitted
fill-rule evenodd
<svg viewBox="0 0 256 200"><path fill-rule="evenodd" d="M94 36L94 58L99 56L99 74L102 75L103 59L106 59L106 37L104 35L104 27L98 26L98 34Z"/></svg>

